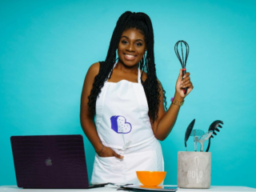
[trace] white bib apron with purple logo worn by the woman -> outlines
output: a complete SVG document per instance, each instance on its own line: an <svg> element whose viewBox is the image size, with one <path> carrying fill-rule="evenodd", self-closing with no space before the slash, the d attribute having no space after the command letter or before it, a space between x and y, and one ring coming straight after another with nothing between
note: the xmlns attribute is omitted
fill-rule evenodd
<svg viewBox="0 0 256 192"><path fill-rule="evenodd" d="M96 101L98 137L104 146L124 158L101 158L96 154L92 183L138 185L137 170L164 170L162 148L154 137L148 112L139 68L138 83L127 80L104 83Z"/></svg>

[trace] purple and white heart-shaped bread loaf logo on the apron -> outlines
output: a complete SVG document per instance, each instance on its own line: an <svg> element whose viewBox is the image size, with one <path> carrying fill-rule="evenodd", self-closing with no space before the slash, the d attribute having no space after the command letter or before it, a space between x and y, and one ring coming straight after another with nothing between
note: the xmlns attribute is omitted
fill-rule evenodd
<svg viewBox="0 0 256 192"><path fill-rule="evenodd" d="M126 122L126 118L120 115L114 115L110 118L111 129L118 134L129 134L131 131L130 122Z"/></svg>

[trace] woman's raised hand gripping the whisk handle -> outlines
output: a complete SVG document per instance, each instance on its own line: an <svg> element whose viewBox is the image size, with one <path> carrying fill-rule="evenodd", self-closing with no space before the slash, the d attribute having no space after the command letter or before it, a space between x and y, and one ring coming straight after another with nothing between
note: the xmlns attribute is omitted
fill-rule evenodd
<svg viewBox="0 0 256 192"><path fill-rule="evenodd" d="M186 94L183 89L187 88ZM182 70L179 71L178 80L176 82L176 94L179 94L182 98L185 98L193 90L194 86L190 82L190 73L186 73L182 79Z"/></svg>

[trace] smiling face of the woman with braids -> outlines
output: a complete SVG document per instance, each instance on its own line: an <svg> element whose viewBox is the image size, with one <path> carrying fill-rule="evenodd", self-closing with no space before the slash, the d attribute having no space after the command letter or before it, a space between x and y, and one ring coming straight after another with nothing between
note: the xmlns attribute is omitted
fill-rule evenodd
<svg viewBox="0 0 256 192"><path fill-rule="evenodd" d="M126 66L134 66L140 62L145 51L145 38L139 30L129 29L122 32L118 44L118 58L120 62Z"/></svg>

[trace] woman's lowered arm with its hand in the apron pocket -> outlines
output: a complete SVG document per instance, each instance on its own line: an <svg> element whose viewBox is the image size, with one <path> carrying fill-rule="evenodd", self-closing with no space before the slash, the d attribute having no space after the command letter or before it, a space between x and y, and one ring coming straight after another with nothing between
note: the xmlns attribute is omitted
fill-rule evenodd
<svg viewBox="0 0 256 192"><path fill-rule="evenodd" d="M99 72L99 62L90 66L87 71L85 81L82 86L81 105L80 105L80 123L83 132L89 139L90 143L94 146L94 150L100 157L112 157L123 158L121 155L116 154L114 150L109 147L103 146L94 123L94 115L90 114L88 102L90 90L93 88L94 78Z"/></svg>

